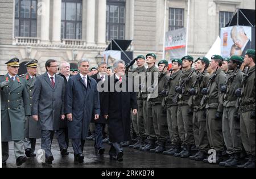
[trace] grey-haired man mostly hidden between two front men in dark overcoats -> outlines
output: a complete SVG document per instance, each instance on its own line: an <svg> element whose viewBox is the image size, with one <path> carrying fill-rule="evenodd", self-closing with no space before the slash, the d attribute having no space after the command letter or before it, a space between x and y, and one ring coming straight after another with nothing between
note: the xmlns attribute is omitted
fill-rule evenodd
<svg viewBox="0 0 256 179"><path fill-rule="evenodd" d="M104 82L106 79L109 79L109 76L106 74L107 71L107 64L105 62L102 62L100 64L98 64L98 74L93 75L92 78L96 80L96 82L98 83L98 91L101 90L102 88L104 88ZM94 120L94 117L92 119L92 122L95 123L95 143L94 143L94 147L96 152L98 152L98 154L103 155L104 154L104 146L103 146L103 131L105 128L105 124L106 124L106 119L104 118L103 114L102 114L102 108L103 108L103 92L100 92L100 104L101 104L101 115L100 118L98 120Z"/></svg>

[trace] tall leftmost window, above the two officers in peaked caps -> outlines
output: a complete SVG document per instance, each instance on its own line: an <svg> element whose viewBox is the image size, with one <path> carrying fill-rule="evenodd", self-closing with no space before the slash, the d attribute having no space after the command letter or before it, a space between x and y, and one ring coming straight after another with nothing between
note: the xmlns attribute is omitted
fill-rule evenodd
<svg viewBox="0 0 256 179"><path fill-rule="evenodd" d="M37 0L15 0L15 37L36 37Z"/></svg>

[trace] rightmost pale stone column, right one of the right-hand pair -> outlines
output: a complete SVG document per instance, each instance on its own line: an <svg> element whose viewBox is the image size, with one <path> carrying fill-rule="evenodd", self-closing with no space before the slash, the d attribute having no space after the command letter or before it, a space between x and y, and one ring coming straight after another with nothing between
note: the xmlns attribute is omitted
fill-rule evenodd
<svg viewBox="0 0 256 179"><path fill-rule="evenodd" d="M106 45L106 0L98 2L98 45Z"/></svg>

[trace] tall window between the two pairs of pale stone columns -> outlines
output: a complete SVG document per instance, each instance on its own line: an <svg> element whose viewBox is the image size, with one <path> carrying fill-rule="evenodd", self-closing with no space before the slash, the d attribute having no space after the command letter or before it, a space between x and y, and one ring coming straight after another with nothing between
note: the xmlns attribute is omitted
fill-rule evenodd
<svg viewBox="0 0 256 179"><path fill-rule="evenodd" d="M82 39L82 0L62 0L61 38Z"/></svg>

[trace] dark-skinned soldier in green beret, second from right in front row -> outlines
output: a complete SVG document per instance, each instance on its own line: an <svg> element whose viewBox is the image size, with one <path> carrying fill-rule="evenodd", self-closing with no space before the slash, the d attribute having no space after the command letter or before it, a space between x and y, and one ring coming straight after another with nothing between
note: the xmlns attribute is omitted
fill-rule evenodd
<svg viewBox="0 0 256 179"><path fill-rule="evenodd" d="M237 109L238 97L235 95L236 90L242 87L243 73L240 70L242 63L243 59L240 56L230 58L228 67L232 73L228 75L226 85L221 87L221 92L224 93L222 132L229 159L220 162L220 165L225 167L237 167L242 151L240 117Z"/></svg>

